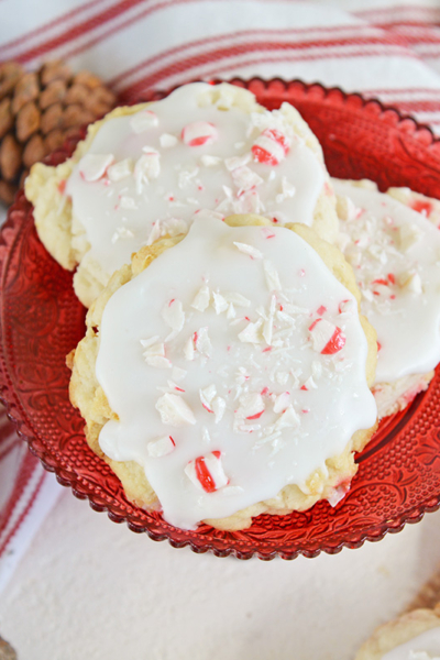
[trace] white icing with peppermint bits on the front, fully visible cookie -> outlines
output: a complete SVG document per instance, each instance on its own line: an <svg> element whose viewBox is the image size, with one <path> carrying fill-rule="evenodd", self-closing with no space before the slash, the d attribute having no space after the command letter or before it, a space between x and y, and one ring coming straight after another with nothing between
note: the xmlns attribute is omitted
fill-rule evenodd
<svg viewBox="0 0 440 660"><path fill-rule="evenodd" d="M276 264L275 292L266 264ZM216 309L208 290L233 300L235 318L229 307ZM328 458L376 419L365 382L365 336L358 315L339 312L346 299L353 296L290 230L267 234L265 228L196 220L184 241L106 306L97 377L119 421L102 428L102 450L143 465L164 517L183 528L274 497L289 483L305 488L315 470L324 470ZM179 302L183 326L163 314L170 300L170 307ZM310 323L322 318L317 310L345 337L333 354L317 352L309 340ZM148 350L173 369L145 362ZM169 380L176 369L178 384ZM174 450L152 458L145 448L169 433ZM191 462L212 452L220 452L219 463L208 461L212 479L222 483L224 473L228 491L194 486Z"/></svg>

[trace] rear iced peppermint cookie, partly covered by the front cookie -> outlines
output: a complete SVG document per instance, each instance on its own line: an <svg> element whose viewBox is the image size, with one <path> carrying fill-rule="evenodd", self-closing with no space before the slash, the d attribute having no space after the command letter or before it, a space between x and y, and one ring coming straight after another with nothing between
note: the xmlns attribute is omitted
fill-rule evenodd
<svg viewBox="0 0 440 660"><path fill-rule="evenodd" d="M205 82L89 127L58 167L25 183L38 235L87 307L142 245L194 218L255 212L304 222L332 241L336 200L321 147L288 103L270 112L248 90Z"/></svg>

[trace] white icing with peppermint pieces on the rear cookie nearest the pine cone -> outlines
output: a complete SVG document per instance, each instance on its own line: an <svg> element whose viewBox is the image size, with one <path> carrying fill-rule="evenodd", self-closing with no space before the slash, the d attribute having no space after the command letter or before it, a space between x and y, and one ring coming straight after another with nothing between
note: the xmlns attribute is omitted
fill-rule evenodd
<svg viewBox="0 0 440 660"><path fill-rule="evenodd" d="M143 244L167 232L185 233L206 211L220 219L260 212L279 223L287 218L311 226L324 183L316 155L282 111L220 109L228 85L217 106L201 105L209 89L205 82L188 85L147 110L105 122L74 167L66 186L73 215L90 244L87 258L108 275ZM251 151L271 129L288 144L263 136L279 165L256 162Z"/></svg>

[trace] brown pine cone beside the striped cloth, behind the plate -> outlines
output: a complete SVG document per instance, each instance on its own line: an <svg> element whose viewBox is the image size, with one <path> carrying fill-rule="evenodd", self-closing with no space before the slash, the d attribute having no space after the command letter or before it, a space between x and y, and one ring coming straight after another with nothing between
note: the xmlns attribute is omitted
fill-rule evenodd
<svg viewBox="0 0 440 660"><path fill-rule="evenodd" d="M30 167L114 107L116 97L89 72L64 62L26 73L0 64L0 199L11 204Z"/></svg>

